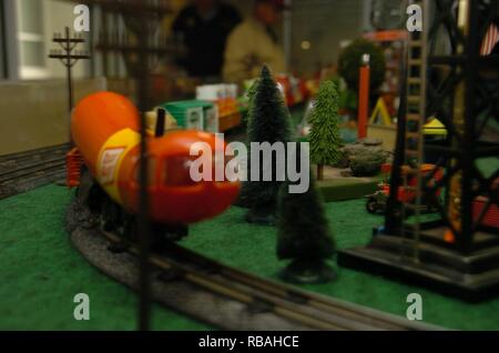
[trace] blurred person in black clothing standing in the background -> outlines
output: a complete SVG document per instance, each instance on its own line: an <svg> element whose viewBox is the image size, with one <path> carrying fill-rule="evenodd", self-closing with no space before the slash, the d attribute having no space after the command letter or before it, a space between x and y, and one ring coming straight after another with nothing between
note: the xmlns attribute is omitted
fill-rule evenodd
<svg viewBox="0 0 499 353"><path fill-rule="evenodd" d="M179 64L190 75L220 80L227 36L241 21L240 13L220 0L192 0L173 22L174 36L187 50Z"/></svg>

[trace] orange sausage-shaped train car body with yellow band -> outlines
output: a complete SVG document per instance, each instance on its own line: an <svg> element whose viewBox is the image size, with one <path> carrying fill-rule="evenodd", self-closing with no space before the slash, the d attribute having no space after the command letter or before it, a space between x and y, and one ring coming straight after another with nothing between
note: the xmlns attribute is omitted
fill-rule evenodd
<svg viewBox="0 0 499 353"><path fill-rule="evenodd" d="M129 213L138 211L139 111L124 97L99 92L74 109L71 131L85 165L105 193ZM220 145L211 133L176 131L147 138L151 219L163 224L186 224L215 216L237 196L240 184L230 181L194 182L190 178L191 145Z"/></svg>

